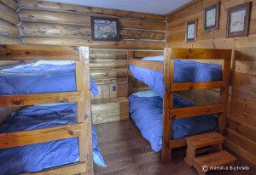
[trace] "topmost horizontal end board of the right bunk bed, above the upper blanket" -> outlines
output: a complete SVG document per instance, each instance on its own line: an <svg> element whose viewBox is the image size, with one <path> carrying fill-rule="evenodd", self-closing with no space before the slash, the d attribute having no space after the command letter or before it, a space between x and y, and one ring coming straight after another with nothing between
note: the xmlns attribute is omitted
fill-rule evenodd
<svg viewBox="0 0 256 175"><path fill-rule="evenodd" d="M231 49L172 48L172 59L231 59L231 54Z"/></svg>

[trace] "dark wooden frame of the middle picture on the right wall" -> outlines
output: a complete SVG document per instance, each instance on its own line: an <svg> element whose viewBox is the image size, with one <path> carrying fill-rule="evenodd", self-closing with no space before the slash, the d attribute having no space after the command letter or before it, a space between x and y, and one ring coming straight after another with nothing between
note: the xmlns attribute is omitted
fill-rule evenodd
<svg viewBox="0 0 256 175"><path fill-rule="evenodd" d="M215 25L207 26L207 19L209 17L211 17L211 16L209 16L209 17L207 16L207 12L210 12L213 9L215 9L215 16L214 16ZM219 1L218 1L218 3L213 3L212 5L210 5L207 8L205 8L205 10L204 10L204 30L205 31L215 31L215 30L218 30L218 23L219 23L218 20L219 20Z"/></svg>

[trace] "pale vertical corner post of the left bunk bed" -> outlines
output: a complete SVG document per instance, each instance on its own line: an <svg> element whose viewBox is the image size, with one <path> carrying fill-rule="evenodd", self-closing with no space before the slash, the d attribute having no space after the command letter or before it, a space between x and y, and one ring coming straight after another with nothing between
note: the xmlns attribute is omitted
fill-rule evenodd
<svg viewBox="0 0 256 175"><path fill-rule="evenodd" d="M84 174L93 174L89 48L79 47L79 56L80 60L76 61L76 83L77 91L82 93L82 99L77 102L77 107L78 122L83 123L83 132L79 137L79 157L80 162L86 162Z"/></svg>

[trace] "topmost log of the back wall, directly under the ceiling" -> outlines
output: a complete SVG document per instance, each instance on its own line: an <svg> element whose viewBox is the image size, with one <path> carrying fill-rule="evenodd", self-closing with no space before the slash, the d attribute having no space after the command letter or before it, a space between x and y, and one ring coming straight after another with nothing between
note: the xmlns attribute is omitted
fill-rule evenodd
<svg viewBox="0 0 256 175"><path fill-rule="evenodd" d="M97 15L108 15L113 17L125 17L125 18L137 18L137 19L146 19L146 20L166 20L166 17L163 15L157 14L145 14L137 13L131 11L123 10L113 10L107 8L93 8L79 5L72 5L66 3L50 3L42 2L40 0L18 0L21 8L38 8L38 9L48 9L55 11L67 11L73 13L82 13L82 14L97 14Z"/></svg>

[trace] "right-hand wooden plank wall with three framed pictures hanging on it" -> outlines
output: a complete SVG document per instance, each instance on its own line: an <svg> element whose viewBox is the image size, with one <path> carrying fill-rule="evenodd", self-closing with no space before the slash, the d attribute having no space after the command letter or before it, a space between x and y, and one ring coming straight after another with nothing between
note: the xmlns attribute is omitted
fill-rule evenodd
<svg viewBox="0 0 256 175"><path fill-rule="evenodd" d="M167 17L166 42L177 48L235 48L232 61L230 111L226 146L256 166L256 1L253 0L248 37L226 38L228 8L251 0L221 0L218 31L203 31L203 10L215 0L200 0ZM198 19L196 42L185 42L185 24ZM214 92L211 92L214 93ZM199 103L205 93L185 93Z"/></svg>

